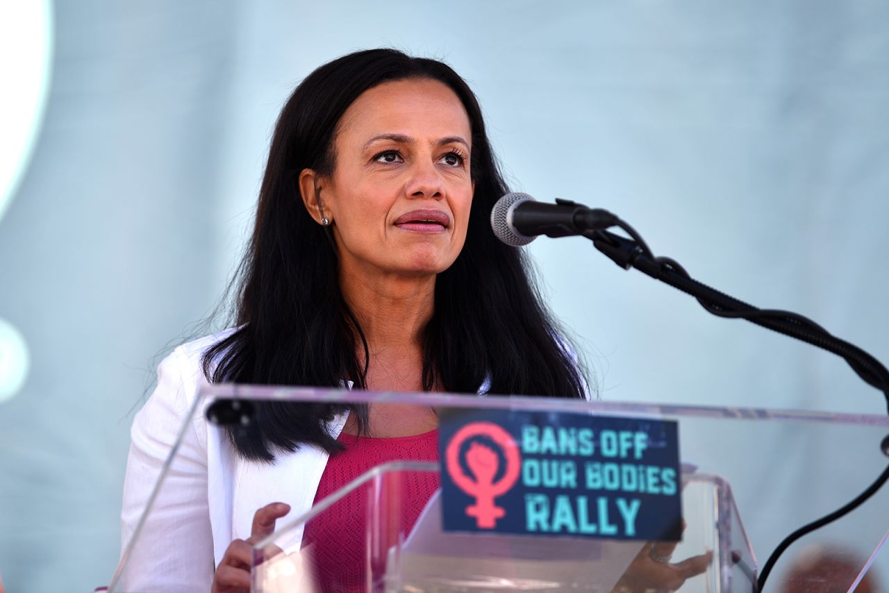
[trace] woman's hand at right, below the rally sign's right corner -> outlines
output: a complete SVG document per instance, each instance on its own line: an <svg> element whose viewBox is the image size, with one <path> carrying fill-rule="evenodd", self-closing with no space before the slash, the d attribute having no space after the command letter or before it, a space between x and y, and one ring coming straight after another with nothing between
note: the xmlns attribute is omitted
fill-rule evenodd
<svg viewBox="0 0 889 593"><path fill-rule="evenodd" d="M703 573L712 559L712 553L686 558L672 563L670 557L676 549L676 541L646 543L627 567L612 589L612 593L646 593L648 591L675 591L686 579Z"/></svg>

